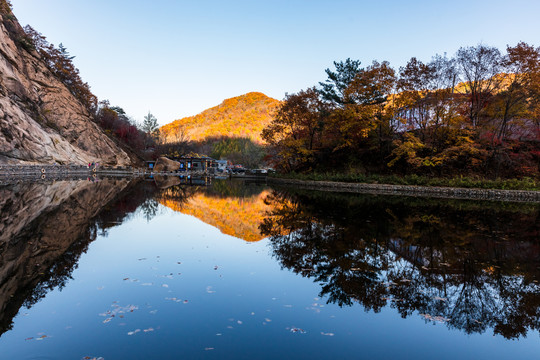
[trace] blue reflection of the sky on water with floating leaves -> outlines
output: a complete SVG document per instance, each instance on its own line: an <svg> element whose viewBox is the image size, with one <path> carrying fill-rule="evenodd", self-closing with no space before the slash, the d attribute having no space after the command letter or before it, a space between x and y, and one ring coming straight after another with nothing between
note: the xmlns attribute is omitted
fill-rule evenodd
<svg viewBox="0 0 540 360"><path fill-rule="evenodd" d="M149 222L134 216L91 243L73 280L32 309L21 309L14 329L0 338L0 349L13 359L38 354L66 359L538 354L538 334L520 341L467 336L417 316L401 319L394 309L373 314L361 306L327 305L317 299L319 291L311 279L280 269L267 241L246 243L160 206ZM138 309L103 323L107 317L99 314L113 310L114 302ZM293 333L291 327L306 333ZM24 340L42 334L47 335L43 340Z"/></svg>

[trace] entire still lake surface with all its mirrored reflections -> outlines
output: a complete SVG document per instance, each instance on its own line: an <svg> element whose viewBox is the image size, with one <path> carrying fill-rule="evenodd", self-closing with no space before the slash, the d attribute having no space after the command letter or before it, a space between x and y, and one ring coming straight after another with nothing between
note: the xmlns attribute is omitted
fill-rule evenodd
<svg viewBox="0 0 540 360"><path fill-rule="evenodd" d="M0 186L1 359L533 359L540 205Z"/></svg>

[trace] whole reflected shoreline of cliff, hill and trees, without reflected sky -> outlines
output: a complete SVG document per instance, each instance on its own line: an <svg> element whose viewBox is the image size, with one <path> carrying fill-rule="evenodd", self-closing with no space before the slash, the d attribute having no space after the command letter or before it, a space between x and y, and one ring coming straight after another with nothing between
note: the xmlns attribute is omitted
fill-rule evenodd
<svg viewBox="0 0 540 360"><path fill-rule="evenodd" d="M247 241L340 306L466 333L540 330L538 205L276 191L241 181L104 179L0 187L0 333L63 288L81 254L161 205Z"/></svg>

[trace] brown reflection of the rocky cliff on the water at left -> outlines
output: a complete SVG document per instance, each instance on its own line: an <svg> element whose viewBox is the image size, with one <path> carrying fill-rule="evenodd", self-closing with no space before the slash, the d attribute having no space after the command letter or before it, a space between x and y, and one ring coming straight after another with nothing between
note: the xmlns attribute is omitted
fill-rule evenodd
<svg viewBox="0 0 540 360"><path fill-rule="evenodd" d="M100 211L114 208L128 184L105 179L0 188L0 333L22 305L65 284L95 239L96 222L107 224Z"/></svg>

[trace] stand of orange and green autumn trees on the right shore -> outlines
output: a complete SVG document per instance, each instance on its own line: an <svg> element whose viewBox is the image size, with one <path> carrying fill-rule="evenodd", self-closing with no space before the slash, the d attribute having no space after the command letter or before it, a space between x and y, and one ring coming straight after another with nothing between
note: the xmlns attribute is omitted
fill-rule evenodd
<svg viewBox="0 0 540 360"><path fill-rule="evenodd" d="M263 130L281 172L538 178L540 48L334 66L286 95Z"/></svg>

